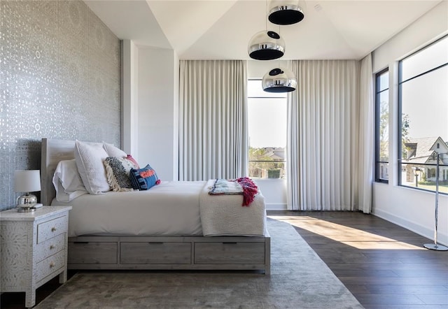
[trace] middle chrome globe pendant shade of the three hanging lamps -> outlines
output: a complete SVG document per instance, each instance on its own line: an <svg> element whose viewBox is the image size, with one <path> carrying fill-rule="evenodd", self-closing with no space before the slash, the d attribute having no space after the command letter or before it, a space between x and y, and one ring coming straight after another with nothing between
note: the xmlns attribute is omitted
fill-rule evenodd
<svg viewBox="0 0 448 309"><path fill-rule="evenodd" d="M249 41L248 53L252 59L278 59L285 53L285 41L274 31L260 31Z"/></svg>

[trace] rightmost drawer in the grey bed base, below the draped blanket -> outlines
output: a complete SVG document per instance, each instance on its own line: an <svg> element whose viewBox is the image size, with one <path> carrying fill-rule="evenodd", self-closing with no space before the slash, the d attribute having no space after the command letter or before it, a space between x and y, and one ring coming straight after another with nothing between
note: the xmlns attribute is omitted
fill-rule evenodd
<svg viewBox="0 0 448 309"><path fill-rule="evenodd" d="M195 264L264 264L265 243L195 243Z"/></svg>

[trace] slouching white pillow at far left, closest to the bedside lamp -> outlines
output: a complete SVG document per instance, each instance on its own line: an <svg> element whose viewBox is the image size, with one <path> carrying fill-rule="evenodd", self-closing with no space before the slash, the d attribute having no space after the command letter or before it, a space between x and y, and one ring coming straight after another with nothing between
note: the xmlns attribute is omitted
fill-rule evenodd
<svg viewBox="0 0 448 309"><path fill-rule="evenodd" d="M80 178L75 159L59 161L52 182L56 189L56 200L59 202L69 202L89 193Z"/></svg>

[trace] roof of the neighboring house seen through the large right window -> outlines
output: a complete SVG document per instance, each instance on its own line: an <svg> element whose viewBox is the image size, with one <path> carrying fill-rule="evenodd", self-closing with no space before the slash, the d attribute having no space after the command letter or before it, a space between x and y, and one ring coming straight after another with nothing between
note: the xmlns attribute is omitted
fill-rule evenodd
<svg viewBox="0 0 448 309"><path fill-rule="evenodd" d="M439 143L440 147L444 148L441 153L448 152L448 144L439 137L423 137L412 138L409 142L405 143L408 149L407 159L403 159L403 163L409 164L429 164L435 163L432 157L435 152L435 145ZM440 158L443 161L443 158ZM443 162L440 162L443 163Z"/></svg>

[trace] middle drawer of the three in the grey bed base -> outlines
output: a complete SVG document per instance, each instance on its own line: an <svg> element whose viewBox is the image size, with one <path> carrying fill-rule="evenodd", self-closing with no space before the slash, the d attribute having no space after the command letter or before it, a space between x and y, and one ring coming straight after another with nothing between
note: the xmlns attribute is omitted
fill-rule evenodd
<svg viewBox="0 0 448 309"><path fill-rule="evenodd" d="M191 243L121 243L120 264L191 264Z"/></svg>

